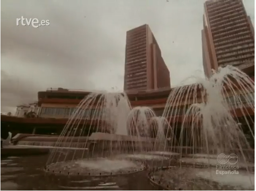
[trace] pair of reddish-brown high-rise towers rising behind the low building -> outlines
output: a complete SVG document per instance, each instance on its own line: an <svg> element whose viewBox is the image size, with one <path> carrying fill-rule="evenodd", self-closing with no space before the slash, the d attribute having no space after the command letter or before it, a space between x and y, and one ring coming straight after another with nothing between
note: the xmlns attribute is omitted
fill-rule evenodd
<svg viewBox="0 0 256 191"><path fill-rule="evenodd" d="M254 28L242 0L204 3L202 63L207 77L212 69L233 65L254 76ZM148 24L127 31L124 90L170 88L170 72Z"/></svg>

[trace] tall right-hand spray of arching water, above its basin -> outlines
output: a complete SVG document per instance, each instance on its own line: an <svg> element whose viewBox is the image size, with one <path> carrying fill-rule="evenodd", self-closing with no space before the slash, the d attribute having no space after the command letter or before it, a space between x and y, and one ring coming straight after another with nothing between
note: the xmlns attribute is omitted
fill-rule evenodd
<svg viewBox="0 0 256 191"><path fill-rule="evenodd" d="M193 77L197 78L197 77ZM163 113L179 141L172 149L182 153L222 153L250 148L245 131L254 140L254 82L228 66L213 71L211 78L174 88ZM181 116L183 116L181 118ZM181 151L181 150L180 150Z"/></svg>

